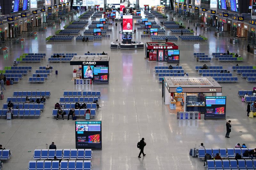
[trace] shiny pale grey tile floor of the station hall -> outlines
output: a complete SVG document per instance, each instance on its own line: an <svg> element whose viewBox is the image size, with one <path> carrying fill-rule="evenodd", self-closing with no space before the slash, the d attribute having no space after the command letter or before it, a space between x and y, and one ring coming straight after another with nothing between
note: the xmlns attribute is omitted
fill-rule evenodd
<svg viewBox="0 0 256 170"><path fill-rule="evenodd" d="M77 20L78 15L72 20ZM172 17L169 17L169 19ZM174 18L179 21L179 18ZM91 21L90 21L91 22ZM160 22L156 19L156 22ZM180 21L183 25L192 24ZM68 23L61 23L61 28ZM230 148L236 143L245 143L255 147L255 118L246 116L246 104L237 96L238 90L250 90L254 84L240 78L236 84L222 84L223 95L227 96L227 119L232 120L230 138L225 138L225 120L178 121L175 114L169 114L161 97L162 85L154 74L155 65L167 63L148 62L144 59L144 49L114 50L110 49L110 41L120 40L118 28L113 28L111 37L93 42L45 42L45 37L52 35L58 26L48 27L39 32L37 37L25 38L22 45L10 46L7 56L0 55L0 69L12 65L13 60L22 53L46 53L41 63L21 63L31 65L33 70L18 84L6 86L5 99L12 96L13 91L49 90L51 97L45 104L45 110L39 119L0 119L0 144L12 150L10 160L4 162L3 170L25 170L29 160L33 160L35 149L44 149L45 144L55 142L58 149L75 148L75 125L72 120L52 118L54 103L59 101L64 90L97 90L101 91L100 109L94 120L102 121L102 151L94 151L92 169L94 170L166 170L166 169L205 169L203 162L189 156L189 150L201 142L206 148ZM195 30L195 29L194 29ZM168 31L168 30L166 30ZM140 39L137 31L134 40ZM168 31L167 34L171 34ZM208 37L207 42L176 42L180 49L180 65L190 76L197 76L196 62L193 53L205 52L237 52L244 56L244 63L239 65L256 65L256 57L248 54L244 46L228 44L227 38L216 38L212 31L197 29L197 34ZM110 80L108 85L74 85L71 81L73 67L68 63L51 63L59 74L50 75L44 84L30 84L28 77L39 66L48 64L47 58L55 52L78 53L107 52L110 55ZM223 65L231 71L234 63L219 63L213 60L207 65ZM53 71L54 72L54 71ZM234 75L236 75L234 73ZM3 106L6 100L0 101ZM78 119L82 120L82 119ZM242 131L242 132L239 132ZM147 146L144 158L138 158L137 142L145 138ZM31 152L29 152L31 151Z"/></svg>

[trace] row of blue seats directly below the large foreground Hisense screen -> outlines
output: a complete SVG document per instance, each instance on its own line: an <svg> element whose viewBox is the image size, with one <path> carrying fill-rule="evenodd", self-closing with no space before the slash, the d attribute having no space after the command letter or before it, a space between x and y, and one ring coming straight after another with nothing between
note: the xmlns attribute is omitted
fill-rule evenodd
<svg viewBox="0 0 256 170"><path fill-rule="evenodd" d="M34 159L92 159L92 149L35 149Z"/></svg>

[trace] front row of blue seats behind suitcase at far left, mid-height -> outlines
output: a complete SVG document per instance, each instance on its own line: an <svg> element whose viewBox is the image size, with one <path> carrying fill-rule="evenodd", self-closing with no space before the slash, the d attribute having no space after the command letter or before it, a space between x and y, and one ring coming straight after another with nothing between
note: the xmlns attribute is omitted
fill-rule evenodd
<svg viewBox="0 0 256 170"><path fill-rule="evenodd" d="M6 116L7 109L0 109L0 116ZM40 109L13 109L13 116L40 116Z"/></svg>

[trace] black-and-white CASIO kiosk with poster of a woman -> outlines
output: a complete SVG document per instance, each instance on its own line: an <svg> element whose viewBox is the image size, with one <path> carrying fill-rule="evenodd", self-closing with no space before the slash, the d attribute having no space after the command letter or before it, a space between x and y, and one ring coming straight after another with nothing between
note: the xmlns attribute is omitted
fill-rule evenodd
<svg viewBox="0 0 256 170"><path fill-rule="evenodd" d="M73 78L79 78L81 82L90 79L93 84L108 84L109 55L74 55L70 65L73 65Z"/></svg>

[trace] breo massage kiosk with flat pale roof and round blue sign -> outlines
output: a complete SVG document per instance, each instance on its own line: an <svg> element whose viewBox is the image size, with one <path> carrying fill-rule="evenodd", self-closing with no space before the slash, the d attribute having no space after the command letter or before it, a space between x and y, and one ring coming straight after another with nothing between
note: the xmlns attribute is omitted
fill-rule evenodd
<svg viewBox="0 0 256 170"><path fill-rule="evenodd" d="M222 87L212 77L164 77L162 90L171 113L204 113L205 97L222 95Z"/></svg>

